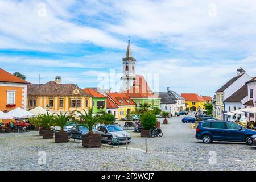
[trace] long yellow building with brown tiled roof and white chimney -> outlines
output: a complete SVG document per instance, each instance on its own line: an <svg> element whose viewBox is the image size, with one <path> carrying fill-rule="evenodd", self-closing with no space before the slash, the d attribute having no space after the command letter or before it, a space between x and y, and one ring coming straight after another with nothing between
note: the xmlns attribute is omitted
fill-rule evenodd
<svg viewBox="0 0 256 182"><path fill-rule="evenodd" d="M92 107L92 96L75 84L61 84L61 77L46 84L31 84L27 89L27 109L49 108L52 113L68 112Z"/></svg>

